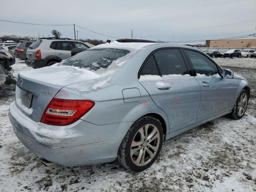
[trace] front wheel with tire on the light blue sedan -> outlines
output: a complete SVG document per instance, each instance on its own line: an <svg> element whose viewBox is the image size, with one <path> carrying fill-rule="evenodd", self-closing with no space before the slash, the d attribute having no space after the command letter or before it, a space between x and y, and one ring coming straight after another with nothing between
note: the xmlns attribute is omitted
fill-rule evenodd
<svg viewBox="0 0 256 192"><path fill-rule="evenodd" d="M249 101L248 92L245 89L243 89L236 100L236 104L234 105L232 112L229 114L230 118L232 119L242 118L244 116L244 113L246 112L248 101Z"/></svg>

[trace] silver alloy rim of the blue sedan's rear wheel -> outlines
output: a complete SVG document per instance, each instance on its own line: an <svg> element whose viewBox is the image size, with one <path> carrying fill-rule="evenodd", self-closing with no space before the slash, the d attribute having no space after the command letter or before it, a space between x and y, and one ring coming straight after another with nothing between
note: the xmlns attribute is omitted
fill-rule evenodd
<svg viewBox="0 0 256 192"><path fill-rule="evenodd" d="M130 156L136 166L145 166L156 155L160 144L158 128L153 124L142 126L135 134Z"/></svg>

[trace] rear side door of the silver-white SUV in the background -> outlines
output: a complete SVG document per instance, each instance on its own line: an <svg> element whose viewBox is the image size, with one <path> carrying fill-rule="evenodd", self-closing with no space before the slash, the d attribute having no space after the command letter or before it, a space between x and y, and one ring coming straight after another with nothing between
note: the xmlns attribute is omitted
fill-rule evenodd
<svg viewBox="0 0 256 192"><path fill-rule="evenodd" d="M74 42L72 41L58 41L56 47L56 56L62 58L62 60L70 58L71 50L74 47Z"/></svg>

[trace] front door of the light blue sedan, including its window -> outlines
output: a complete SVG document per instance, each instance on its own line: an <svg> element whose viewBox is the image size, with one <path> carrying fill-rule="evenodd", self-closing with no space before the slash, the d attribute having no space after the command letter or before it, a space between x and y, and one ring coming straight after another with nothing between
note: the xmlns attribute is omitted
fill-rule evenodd
<svg viewBox="0 0 256 192"><path fill-rule="evenodd" d="M221 69L212 60L194 50L184 50L195 79L201 87L201 102L198 110L200 122L232 108L232 81L222 78Z"/></svg>

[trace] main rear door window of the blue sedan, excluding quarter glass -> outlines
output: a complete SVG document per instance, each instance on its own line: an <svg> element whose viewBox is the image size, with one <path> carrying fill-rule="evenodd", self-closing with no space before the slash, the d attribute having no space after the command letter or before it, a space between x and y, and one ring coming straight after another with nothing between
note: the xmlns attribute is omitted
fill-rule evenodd
<svg viewBox="0 0 256 192"><path fill-rule="evenodd" d="M188 69L178 49L163 49L154 53L162 75L188 74Z"/></svg>

